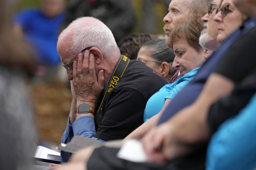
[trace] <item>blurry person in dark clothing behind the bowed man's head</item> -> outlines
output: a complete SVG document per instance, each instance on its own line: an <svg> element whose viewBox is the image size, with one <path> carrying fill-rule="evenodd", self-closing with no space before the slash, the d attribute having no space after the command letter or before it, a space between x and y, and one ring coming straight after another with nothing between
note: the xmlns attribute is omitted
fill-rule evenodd
<svg viewBox="0 0 256 170"><path fill-rule="evenodd" d="M79 17L92 16L109 27L116 42L130 35L135 25L131 0L68 0L66 11L67 16L60 30Z"/></svg>

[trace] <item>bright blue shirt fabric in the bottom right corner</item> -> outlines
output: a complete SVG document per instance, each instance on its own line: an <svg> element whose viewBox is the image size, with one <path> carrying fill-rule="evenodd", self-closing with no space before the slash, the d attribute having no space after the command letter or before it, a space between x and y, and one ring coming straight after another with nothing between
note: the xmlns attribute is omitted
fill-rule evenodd
<svg viewBox="0 0 256 170"><path fill-rule="evenodd" d="M256 95L237 116L226 120L208 145L206 170L256 168Z"/></svg>

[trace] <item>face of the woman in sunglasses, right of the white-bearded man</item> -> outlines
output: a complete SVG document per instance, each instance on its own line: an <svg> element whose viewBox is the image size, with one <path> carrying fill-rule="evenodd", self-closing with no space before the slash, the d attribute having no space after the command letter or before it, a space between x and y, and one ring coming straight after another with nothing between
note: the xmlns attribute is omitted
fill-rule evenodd
<svg viewBox="0 0 256 170"><path fill-rule="evenodd" d="M233 0L223 0L217 9L214 21L218 23L217 41L223 43L227 36L242 25L244 16L233 4Z"/></svg>

